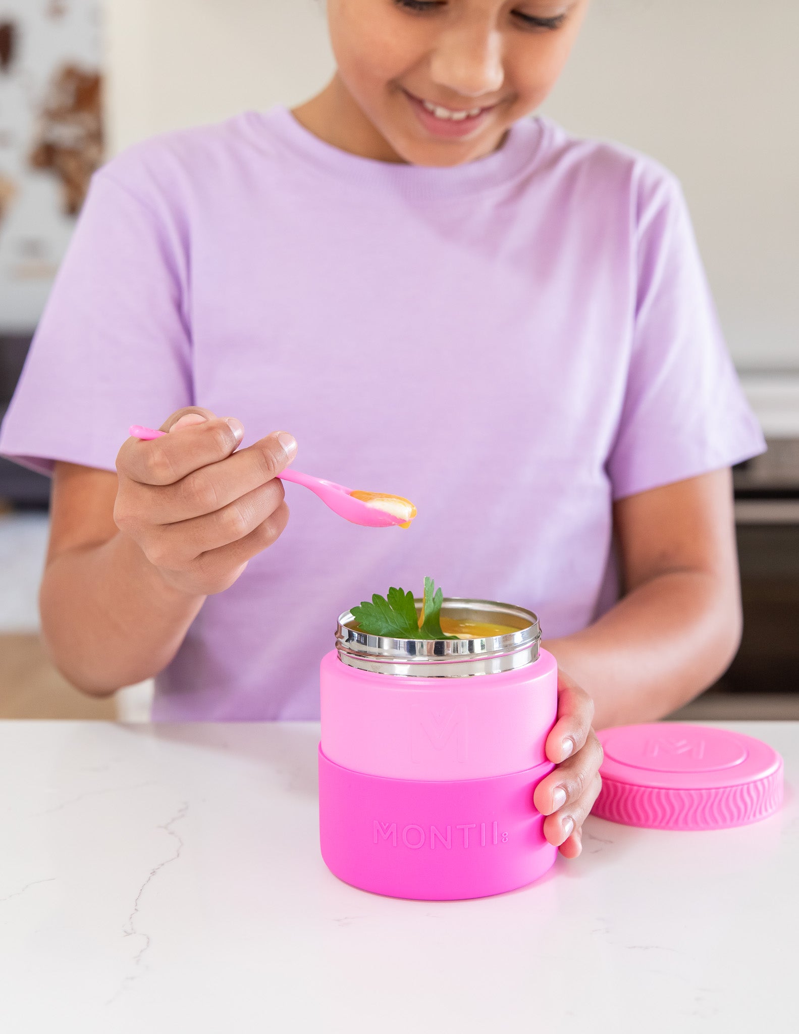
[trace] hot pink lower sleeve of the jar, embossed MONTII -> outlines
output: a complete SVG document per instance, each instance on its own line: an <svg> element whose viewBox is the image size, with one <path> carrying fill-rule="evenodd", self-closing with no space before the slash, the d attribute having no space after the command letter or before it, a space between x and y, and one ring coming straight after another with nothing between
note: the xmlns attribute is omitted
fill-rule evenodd
<svg viewBox="0 0 799 1034"><path fill-rule="evenodd" d="M451 901L525 886L557 848L532 802L550 763L490 779L385 779L319 748L319 840L345 883L394 898Z"/></svg>

